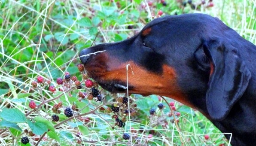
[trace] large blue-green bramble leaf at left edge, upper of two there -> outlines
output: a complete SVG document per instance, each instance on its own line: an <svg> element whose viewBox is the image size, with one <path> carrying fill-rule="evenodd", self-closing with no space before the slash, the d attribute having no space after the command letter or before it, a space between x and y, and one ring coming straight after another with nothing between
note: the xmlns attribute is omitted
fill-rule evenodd
<svg viewBox="0 0 256 146"><path fill-rule="evenodd" d="M4 109L0 113L0 117L9 122L24 123L27 121L24 113L18 109Z"/></svg>

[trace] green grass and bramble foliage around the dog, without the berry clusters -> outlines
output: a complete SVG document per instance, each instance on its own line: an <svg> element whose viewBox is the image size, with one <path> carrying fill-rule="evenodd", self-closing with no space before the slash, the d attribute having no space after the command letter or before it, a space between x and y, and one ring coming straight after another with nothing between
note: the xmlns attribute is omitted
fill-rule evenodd
<svg viewBox="0 0 256 146"><path fill-rule="evenodd" d="M78 53L95 38L94 45L125 40L154 18L196 12L218 17L256 44L256 0L0 0L0 145L24 145L21 137L28 137L26 145L44 146L228 145L201 113L170 98L166 103L156 95L132 95L136 115L127 117L124 128L112 129L113 113L106 109L115 102L113 95L101 91L102 106L78 97L88 88L62 92L56 83L66 71L82 82ZM57 91L49 91L48 84L33 88L31 82L38 76L50 80ZM30 101L36 109L29 107ZM60 120L52 122L52 108L60 101ZM163 110L159 103L165 105ZM72 105L77 116L68 119L63 111ZM124 133L131 138L124 140Z"/></svg>

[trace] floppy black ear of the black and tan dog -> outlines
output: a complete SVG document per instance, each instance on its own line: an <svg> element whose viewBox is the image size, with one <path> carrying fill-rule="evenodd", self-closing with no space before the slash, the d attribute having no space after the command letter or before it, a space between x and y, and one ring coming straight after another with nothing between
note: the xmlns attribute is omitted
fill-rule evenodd
<svg viewBox="0 0 256 146"><path fill-rule="evenodd" d="M212 119L222 120L244 94L251 73L231 44L205 41L203 50L210 63L207 110Z"/></svg>

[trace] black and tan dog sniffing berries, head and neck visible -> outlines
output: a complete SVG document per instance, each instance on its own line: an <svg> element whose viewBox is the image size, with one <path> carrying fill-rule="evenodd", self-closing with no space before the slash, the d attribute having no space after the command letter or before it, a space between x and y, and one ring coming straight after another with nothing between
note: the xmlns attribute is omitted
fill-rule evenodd
<svg viewBox="0 0 256 146"><path fill-rule="evenodd" d="M233 146L256 146L255 58L253 43L205 14L155 18L127 40L79 53L102 88L171 97L232 133Z"/></svg>

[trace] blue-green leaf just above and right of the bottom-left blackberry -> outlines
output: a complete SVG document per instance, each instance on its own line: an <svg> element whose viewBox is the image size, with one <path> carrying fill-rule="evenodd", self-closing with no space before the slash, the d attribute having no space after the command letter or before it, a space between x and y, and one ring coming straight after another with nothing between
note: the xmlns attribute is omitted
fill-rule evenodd
<svg viewBox="0 0 256 146"><path fill-rule="evenodd" d="M30 120L27 120L27 124L30 127L31 131L36 135L42 135L48 131L47 125L43 122L32 123Z"/></svg>

